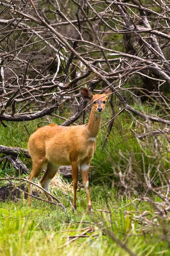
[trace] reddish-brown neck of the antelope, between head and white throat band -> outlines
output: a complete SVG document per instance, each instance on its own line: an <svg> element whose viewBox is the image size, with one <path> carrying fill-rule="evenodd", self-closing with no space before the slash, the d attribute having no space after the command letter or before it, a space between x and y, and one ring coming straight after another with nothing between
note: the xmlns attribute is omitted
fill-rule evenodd
<svg viewBox="0 0 170 256"><path fill-rule="evenodd" d="M102 115L96 114L92 108L88 124L86 126L86 132L89 137L97 137L99 133Z"/></svg>

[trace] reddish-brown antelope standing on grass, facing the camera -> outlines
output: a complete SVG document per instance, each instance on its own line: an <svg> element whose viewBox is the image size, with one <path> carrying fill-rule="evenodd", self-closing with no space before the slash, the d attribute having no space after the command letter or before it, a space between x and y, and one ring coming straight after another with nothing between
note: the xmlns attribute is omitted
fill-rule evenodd
<svg viewBox="0 0 170 256"><path fill-rule="evenodd" d="M93 95L85 87L80 88L81 96L87 101L93 100L90 119L86 125L58 126L48 125L37 129L28 141L28 151L32 158L32 172L29 180L34 181L47 166L44 176L41 179L41 186L49 192L49 183L57 173L59 166L71 165L74 201L76 209L76 197L78 187L79 170L85 187L88 209L93 212L88 187L89 164L96 151L96 137L101 124L101 115L105 110L110 89L103 94ZM29 193L32 193L32 185L29 183ZM53 201L48 194L48 200ZM31 196L28 197L28 205L31 205Z"/></svg>

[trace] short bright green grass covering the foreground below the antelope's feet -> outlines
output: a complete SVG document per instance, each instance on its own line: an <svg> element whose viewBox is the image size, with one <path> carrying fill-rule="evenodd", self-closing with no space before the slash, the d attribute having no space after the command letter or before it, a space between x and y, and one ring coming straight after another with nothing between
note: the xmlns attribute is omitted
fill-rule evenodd
<svg viewBox="0 0 170 256"><path fill-rule="evenodd" d="M96 187L91 187L94 195ZM99 188L98 188L99 189ZM94 215L84 211L85 195L78 192L77 215L71 209L62 212L59 207L51 207L43 202L33 201L31 208L27 207L25 200L17 203L0 203L0 255L129 255L115 243L112 234L126 247L138 256L168 255L169 243L162 239L161 227L143 227L138 220L133 220L135 208L133 205L125 206L129 201L122 198L120 201L112 199L115 195L111 192L108 206L111 214L101 213L97 208L108 209L105 200L94 202ZM131 211L124 215L124 211ZM149 204L142 203L140 211L150 210L147 218L152 218L152 209ZM90 221L101 224L95 226L96 239L89 235L74 241L67 247L59 249L67 236L76 235L77 232L68 232L88 227L90 224L79 224L77 221ZM164 221L169 234L168 221ZM93 226L93 224L92 224ZM61 233L65 231L65 233ZM92 240L91 240L92 239ZM91 241L90 241L91 240ZM162 253L162 251L165 252ZM167 254L166 254L167 253Z"/></svg>

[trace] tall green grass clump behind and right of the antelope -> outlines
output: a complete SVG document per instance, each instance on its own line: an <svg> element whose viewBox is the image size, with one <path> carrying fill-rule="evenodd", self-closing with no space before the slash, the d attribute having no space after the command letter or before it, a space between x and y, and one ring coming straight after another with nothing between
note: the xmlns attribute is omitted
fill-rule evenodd
<svg viewBox="0 0 170 256"><path fill-rule="evenodd" d="M105 117L108 119L107 113ZM153 129L155 128L153 127ZM136 122L130 121L127 113L123 112L115 120L105 148L102 144L107 128L103 128L103 131L99 133L96 153L92 160L91 180L93 182L105 182L112 185L114 181L117 184L120 170L124 173L128 169L131 169L131 172L135 173L139 180L144 181L145 172L150 172L151 177L156 175L159 161L161 171L168 169L169 145L167 141L159 137L159 151L156 152L152 137L148 137L144 141L138 141L130 129L133 129L137 134L142 133L141 127L139 128ZM156 184L160 185L159 178L156 180Z"/></svg>

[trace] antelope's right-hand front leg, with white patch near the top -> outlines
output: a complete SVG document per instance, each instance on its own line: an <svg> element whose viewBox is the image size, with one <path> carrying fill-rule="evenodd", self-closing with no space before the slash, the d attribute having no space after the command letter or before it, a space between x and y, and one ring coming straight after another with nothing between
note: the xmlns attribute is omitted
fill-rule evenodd
<svg viewBox="0 0 170 256"><path fill-rule="evenodd" d="M88 186L89 163L82 163L80 165L80 173L82 176L83 185L85 187L85 192L86 192L87 201L88 201L88 209L90 212L93 212L90 193L89 193L89 186Z"/></svg>

